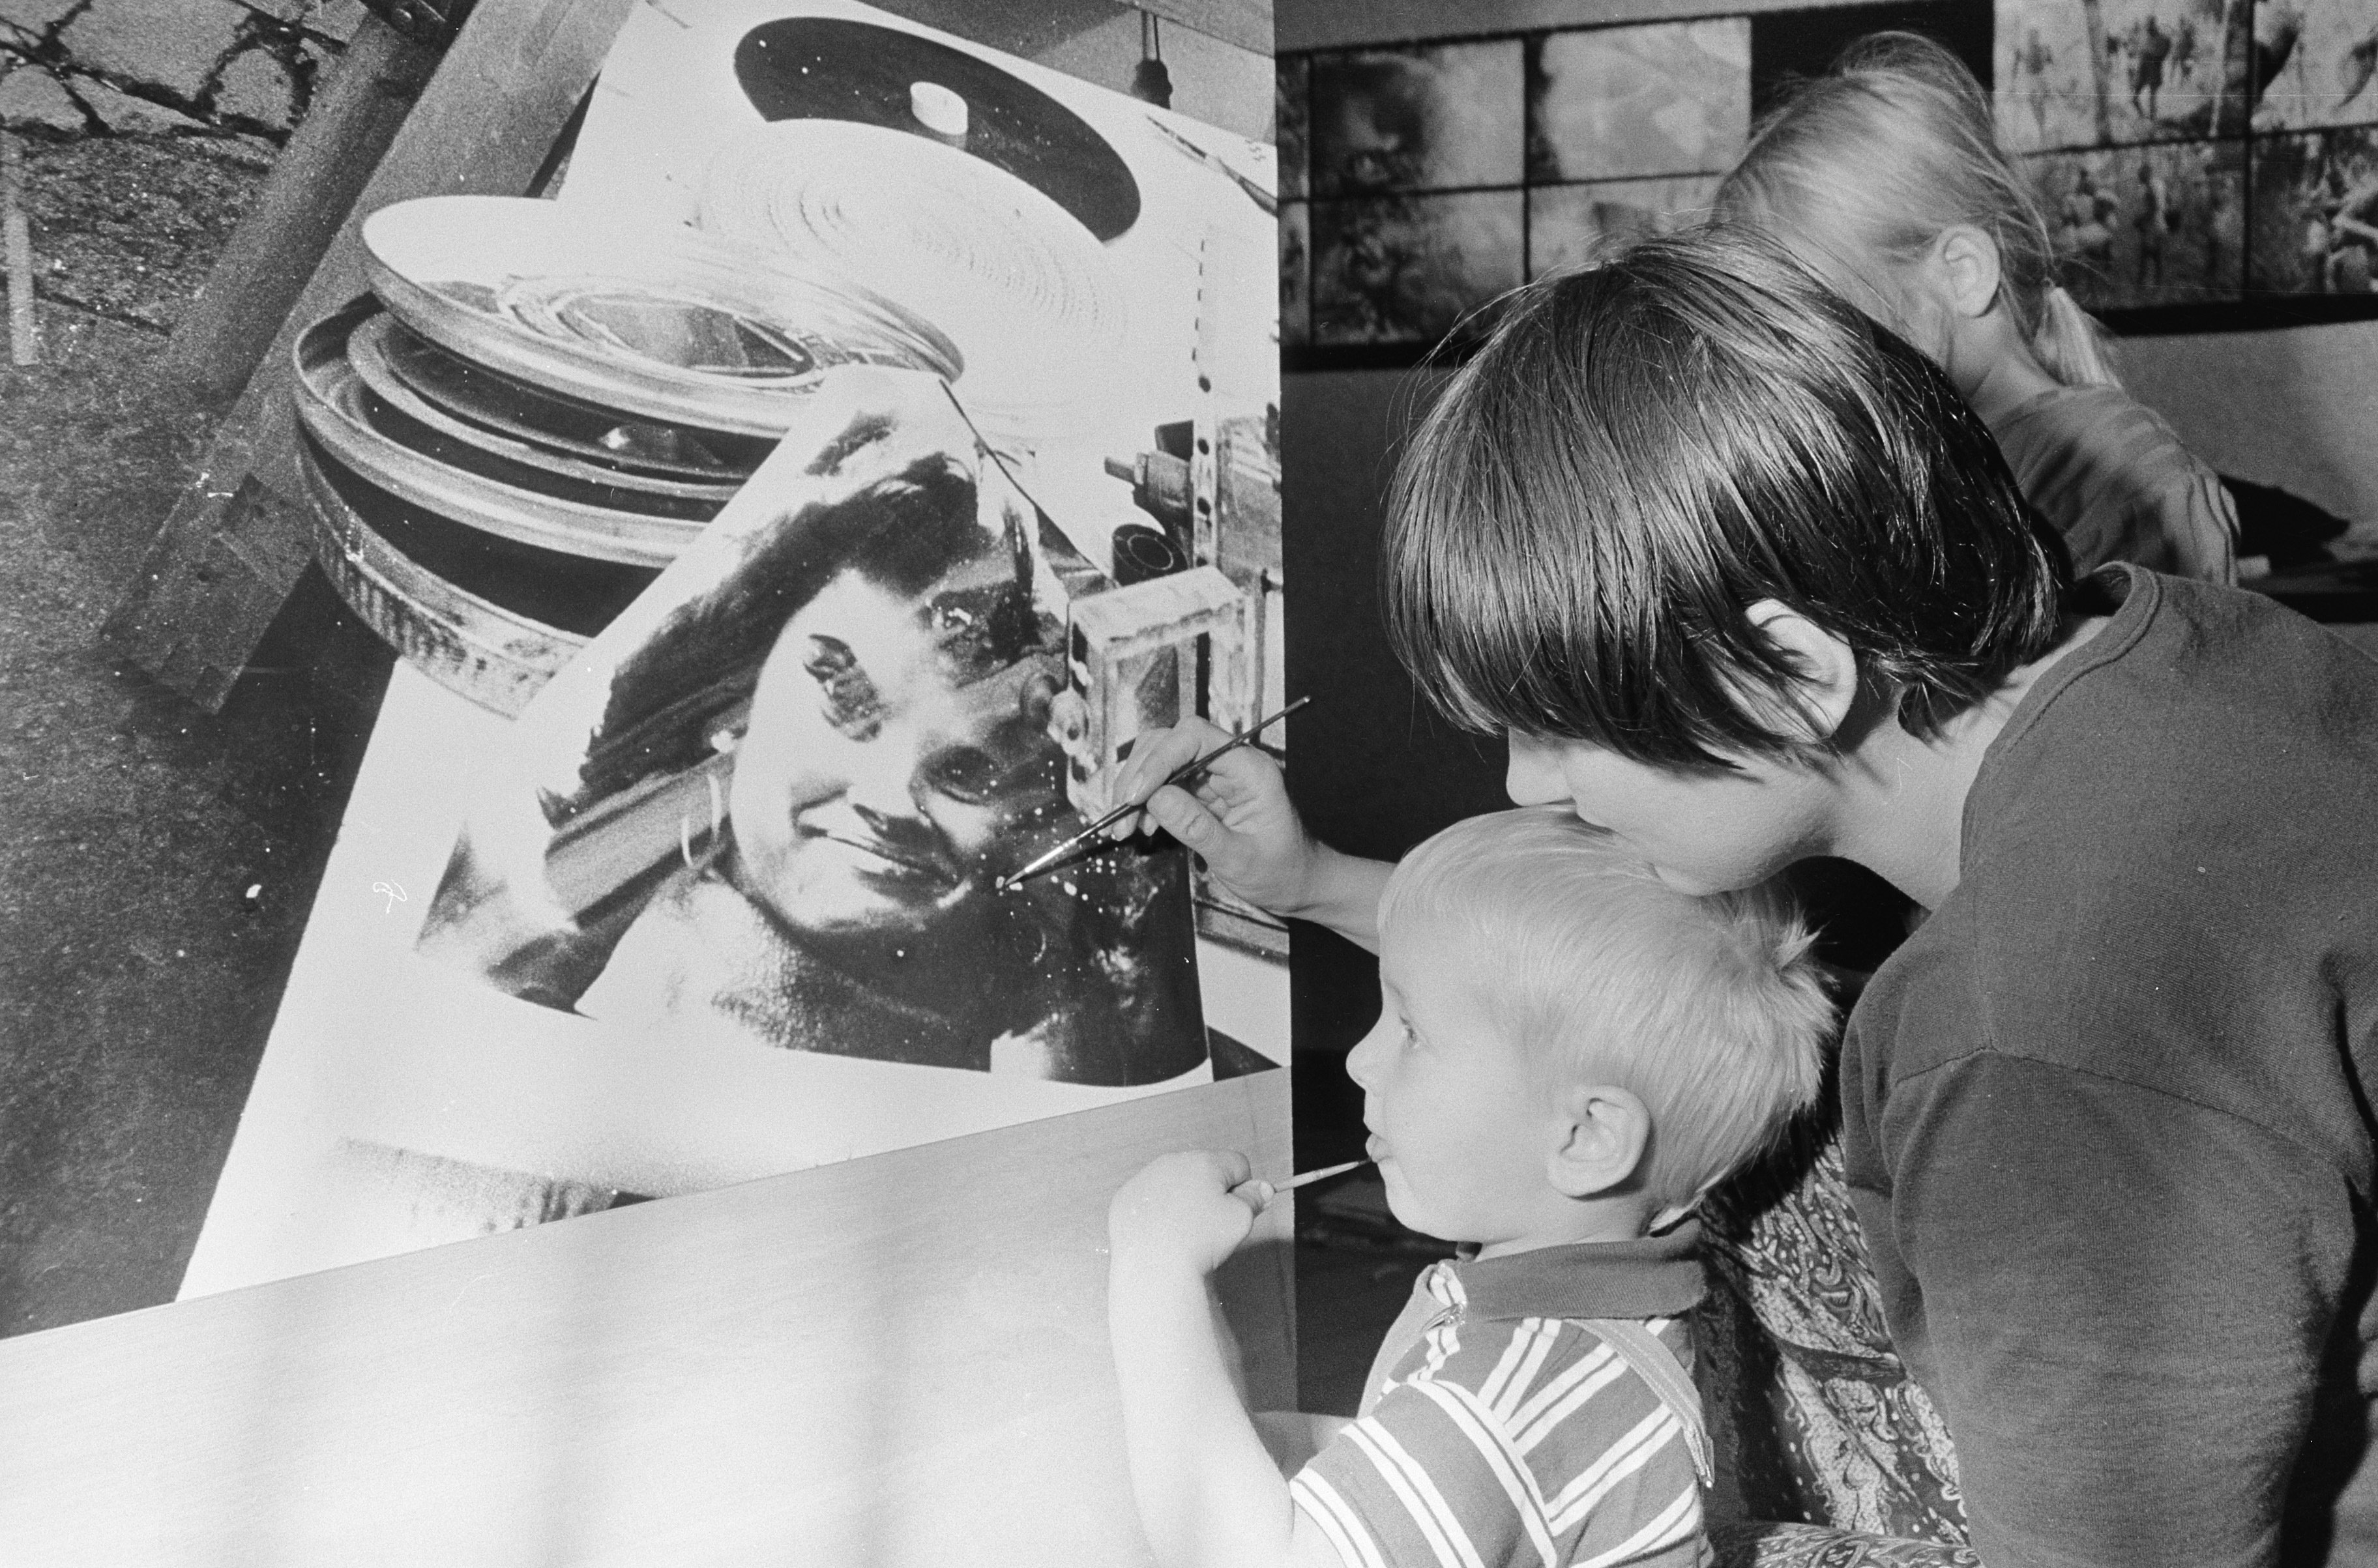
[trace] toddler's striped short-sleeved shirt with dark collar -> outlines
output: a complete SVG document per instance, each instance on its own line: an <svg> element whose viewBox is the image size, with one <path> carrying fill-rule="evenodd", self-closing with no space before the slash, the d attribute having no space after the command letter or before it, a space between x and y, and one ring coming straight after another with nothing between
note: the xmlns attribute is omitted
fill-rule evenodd
<svg viewBox="0 0 2378 1568"><path fill-rule="evenodd" d="M1581 1321L1638 1319L1691 1364L1693 1243L1686 1226L1427 1269L1363 1416L1291 1480L1296 1506L1348 1568L1707 1561L1691 1390L1662 1399L1638 1338Z"/></svg>

